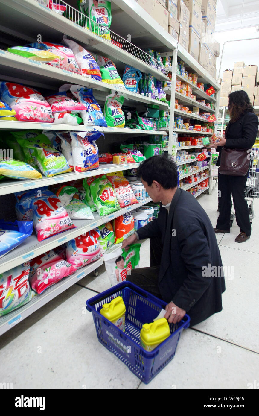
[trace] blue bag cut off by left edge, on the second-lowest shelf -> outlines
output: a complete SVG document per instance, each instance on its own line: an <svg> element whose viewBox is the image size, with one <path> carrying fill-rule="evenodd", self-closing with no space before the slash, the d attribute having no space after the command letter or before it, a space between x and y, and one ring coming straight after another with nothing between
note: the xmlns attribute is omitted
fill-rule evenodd
<svg viewBox="0 0 259 416"><path fill-rule="evenodd" d="M0 220L0 258L20 245L32 234L31 221L15 221L14 223Z"/></svg>

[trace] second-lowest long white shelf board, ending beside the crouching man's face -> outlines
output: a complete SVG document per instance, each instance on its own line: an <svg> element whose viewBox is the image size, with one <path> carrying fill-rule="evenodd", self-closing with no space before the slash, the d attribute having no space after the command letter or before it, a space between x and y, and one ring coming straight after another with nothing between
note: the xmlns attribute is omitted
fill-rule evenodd
<svg viewBox="0 0 259 416"><path fill-rule="evenodd" d="M12 267L18 266L25 261L31 260L32 258L35 258L52 248L58 247L60 244L66 243L67 241L98 227L98 225L105 224L108 221L111 221L128 211L133 211L150 201L151 198L146 198L140 203L130 205L126 208L121 208L112 214L105 215L104 217L100 217L97 213L94 213L94 220L73 220L76 228L54 235L41 242L37 240L37 236L34 232L20 246L10 251L10 253L7 253L0 259L0 273L10 270Z"/></svg>

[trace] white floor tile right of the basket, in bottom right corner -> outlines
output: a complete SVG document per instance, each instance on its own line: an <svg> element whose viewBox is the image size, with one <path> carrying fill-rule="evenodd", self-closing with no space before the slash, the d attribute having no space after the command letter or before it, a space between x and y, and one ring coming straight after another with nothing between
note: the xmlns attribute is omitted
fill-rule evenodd
<svg viewBox="0 0 259 416"><path fill-rule="evenodd" d="M247 389L258 365L258 354L186 329L173 360L139 389Z"/></svg>

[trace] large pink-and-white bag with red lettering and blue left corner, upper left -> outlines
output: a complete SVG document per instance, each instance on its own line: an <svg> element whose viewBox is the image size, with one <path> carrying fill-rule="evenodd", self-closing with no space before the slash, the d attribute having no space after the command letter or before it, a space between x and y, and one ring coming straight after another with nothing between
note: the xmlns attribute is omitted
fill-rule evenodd
<svg viewBox="0 0 259 416"><path fill-rule="evenodd" d="M13 82L1 82L0 93L2 101L15 110L18 121L53 123L51 107L36 89Z"/></svg>

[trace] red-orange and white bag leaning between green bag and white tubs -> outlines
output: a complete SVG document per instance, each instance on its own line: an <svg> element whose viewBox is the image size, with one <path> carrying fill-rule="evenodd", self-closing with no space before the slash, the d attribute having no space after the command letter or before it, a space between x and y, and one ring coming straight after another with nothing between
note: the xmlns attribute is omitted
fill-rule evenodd
<svg viewBox="0 0 259 416"><path fill-rule="evenodd" d="M111 182L121 208L138 203L127 179L116 173L110 173L106 178Z"/></svg>

